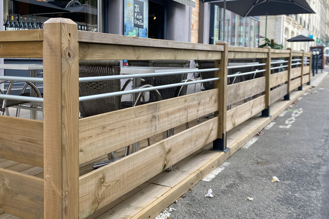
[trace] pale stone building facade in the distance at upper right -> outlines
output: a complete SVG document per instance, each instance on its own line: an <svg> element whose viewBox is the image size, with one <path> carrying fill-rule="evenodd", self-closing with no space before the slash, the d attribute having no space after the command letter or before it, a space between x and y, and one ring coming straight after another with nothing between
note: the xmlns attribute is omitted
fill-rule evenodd
<svg viewBox="0 0 329 219"><path fill-rule="evenodd" d="M328 0L326 0L328 1ZM267 38L282 44L284 49L309 51L310 46L328 45L328 4L324 0L307 0L315 14L289 14L267 16ZM260 16L261 35L265 36L265 16ZM288 42L287 39L304 35L314 42ZM261 38L262 44L264 38Z"/></svg>

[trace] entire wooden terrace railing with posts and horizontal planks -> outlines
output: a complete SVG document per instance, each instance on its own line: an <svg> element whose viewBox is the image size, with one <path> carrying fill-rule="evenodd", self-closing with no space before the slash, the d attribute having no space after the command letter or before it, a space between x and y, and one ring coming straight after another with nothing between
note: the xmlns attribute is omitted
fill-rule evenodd
<svg viewBox="0 0 329 219"><path fill-rule="evenodd" d="M44 168L44 179L0 168L0 210L25 219L84 219L208 143L225 150L227 131L262 111L270 115L274 101L310 81L310 64L291 68L293 56L310 53L91 33L59 18L43 30L0 32L0 43L0 57L43 58L44 120L0 116L7 127L0 158ZM270 74L278 57L289 67ZM227 85L230 58L261 58L266 71ZM212 90L79 120L78 60L99 59L212 59L220 80ZM79 164L212 112L215 118L79 177Z"/></svg>

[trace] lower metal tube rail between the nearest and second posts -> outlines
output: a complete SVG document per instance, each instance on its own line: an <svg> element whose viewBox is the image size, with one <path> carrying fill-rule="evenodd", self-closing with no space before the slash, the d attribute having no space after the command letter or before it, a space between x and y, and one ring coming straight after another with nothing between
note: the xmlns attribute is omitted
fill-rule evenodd
<svg viewBox="0 0 329 219"><path fill-rule="evenodd" d="M189 84L197 84L197 83L215 81L215 80L219 80L219 77L195 80L195 81L189 81L189 82L181 82L181 83L175 83L175 84L166 84L166 85L155 86L155 87L132 89L132 90L127 90L127 91L118 91L118 92L112 92L112 93L106 93L106 94L97 94L97 95L79 97L79 102L92 100L92 99L102 99L102 98L107 98L107 97L122 96L122 95L126 95L126 94L136 94L136 93L141 93L141 92L146 92L146 91L160 90L160 89L165 89L165 88L178 87L178 86L189 85Z"/></svg>

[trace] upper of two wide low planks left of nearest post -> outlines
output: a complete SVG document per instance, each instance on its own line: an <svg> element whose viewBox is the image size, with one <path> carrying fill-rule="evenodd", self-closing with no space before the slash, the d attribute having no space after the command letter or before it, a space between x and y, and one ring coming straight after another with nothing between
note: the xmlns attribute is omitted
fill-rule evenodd
<svg viewBox="0 0 329 219"><path fill-rule="evenodd" d="M0 158L43 167L43 122L0 116Z"/></svg>

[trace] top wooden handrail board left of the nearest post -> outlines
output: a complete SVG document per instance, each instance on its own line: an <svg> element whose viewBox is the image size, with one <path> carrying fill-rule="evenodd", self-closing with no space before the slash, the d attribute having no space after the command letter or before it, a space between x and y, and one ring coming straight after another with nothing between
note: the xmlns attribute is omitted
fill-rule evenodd
<svg viewBox="0 0 329 219"><path fill-rule="evenodd" d="M1 31L1 42L17 42L17 41L42 41L43 30L19 30L19 31Z"/></svg>

